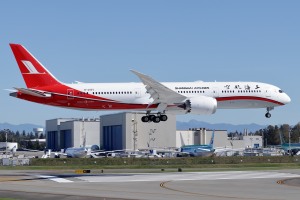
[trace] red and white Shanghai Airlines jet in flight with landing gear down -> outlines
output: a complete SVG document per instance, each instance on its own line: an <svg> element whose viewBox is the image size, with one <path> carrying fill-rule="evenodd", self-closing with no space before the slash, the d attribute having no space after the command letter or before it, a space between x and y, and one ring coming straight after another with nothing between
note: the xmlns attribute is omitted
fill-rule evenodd
<svg viewBox="0 0 300 200"><path fill-rule="evenodd" d="M10 96L80 110L143 111L142 122L166 121L167 114L214 114L217 109L266 108L291 101L280 88L260 82L158 82L131 70L142 83L72 83L57 80L25 47L10 44L27 88Z"/></svg>

